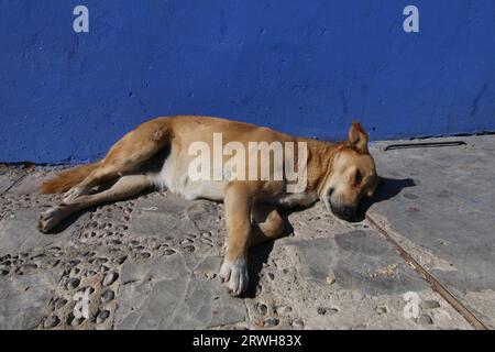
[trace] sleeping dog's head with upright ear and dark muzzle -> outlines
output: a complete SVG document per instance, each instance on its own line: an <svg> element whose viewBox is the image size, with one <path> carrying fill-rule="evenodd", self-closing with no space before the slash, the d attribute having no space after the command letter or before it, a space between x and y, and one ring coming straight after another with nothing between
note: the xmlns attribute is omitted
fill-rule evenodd
<svg viewBox="0 0 495 352"><path fill-rule="evenodd" d="M367 142L364 129L353 122L349 141L338 146L320 188L327 209L343 220L354 217L361 198L371 197L380 182Z"/></svg>

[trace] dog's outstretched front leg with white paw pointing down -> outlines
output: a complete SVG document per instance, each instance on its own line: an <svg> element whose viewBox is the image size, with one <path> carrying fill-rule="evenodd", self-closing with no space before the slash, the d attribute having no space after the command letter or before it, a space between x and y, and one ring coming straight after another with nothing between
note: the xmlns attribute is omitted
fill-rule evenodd
<svg viewBox="0 0 495 352"><path fill-rule="evenodd" d="M251 232L252 197L246 183L232 183L226 189L226 222L228 243L220 278L232 295L241 295L248 287L248 249Z"/></svg>

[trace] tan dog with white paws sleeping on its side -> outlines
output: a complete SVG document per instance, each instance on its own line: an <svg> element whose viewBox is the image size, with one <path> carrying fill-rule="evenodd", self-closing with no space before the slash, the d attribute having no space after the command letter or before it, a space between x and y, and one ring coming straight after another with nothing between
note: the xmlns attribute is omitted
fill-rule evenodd
<svg viewBox="0 0 495 352"><path fill-rule="evenodd" d="M216 133L221 133L222 143L234 141L248 151L253 148L250 142L304 143L307 178L302 191L288 193L289 182L280 169L290 162L298 165L298 152L284 152L282 164L272 157L270 179L233 179L232 175L215 180L193 179L190 165L195 155L190 154L190 145L200 141L215 146ZM220 277L232 294L240 295L248 286L249 248L283 233L284 221L277 208L306 207L322 200L334 215L349 220L360 199L373 194L378 176L367 142L369 136L359 123L352 124L349 141L329 143L218 118L157 118L124 135L100 162L69 169L43 184L44 194L66 191L66 195L59 205L40 215L37 228L47 232L75 211L133 197L150 187L167 188L187 199L223 200L229 238ZM228 160L226 155L222 157ZM261 166L260 161L255 170ZM215 173L213 168L215 162L208 173ZM282 179L274 177L277 172L284 175ZM231 173L239 176L241 170L232 168ZM113 185L95 191L108 183Z"/></svg>

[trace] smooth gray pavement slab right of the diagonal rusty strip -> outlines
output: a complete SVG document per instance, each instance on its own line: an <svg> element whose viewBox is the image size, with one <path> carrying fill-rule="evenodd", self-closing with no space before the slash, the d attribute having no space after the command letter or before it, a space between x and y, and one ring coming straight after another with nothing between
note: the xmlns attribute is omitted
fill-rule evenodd
<svg viewBox="0 0 495 352"><path fill-rule="evenodd" d="M374 155L388 177L367 211L461 305L495 327L495 138ZM376 199L375 199L376 200Z"/></svg>

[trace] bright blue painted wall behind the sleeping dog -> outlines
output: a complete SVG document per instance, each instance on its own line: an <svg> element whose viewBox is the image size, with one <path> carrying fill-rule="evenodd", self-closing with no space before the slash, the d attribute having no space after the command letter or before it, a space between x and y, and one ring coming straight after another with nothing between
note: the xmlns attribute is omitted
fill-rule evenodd
<svg viewBox="0 0 495 352"><path fill-rule="evenodd" d="M495 130L493 0L0 0L0 44L1 162L95 158L162 114L326 139L354 118L373 139Z"/></svg>

